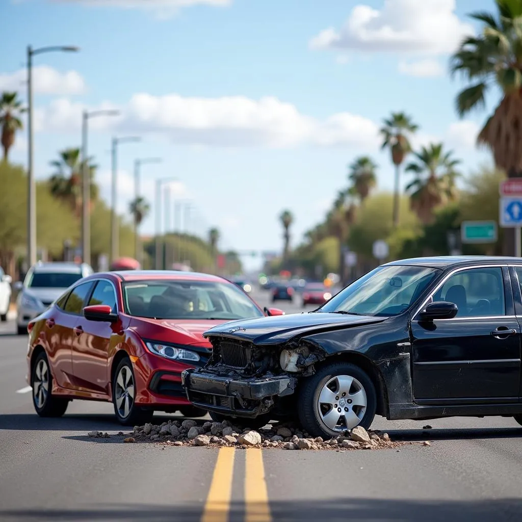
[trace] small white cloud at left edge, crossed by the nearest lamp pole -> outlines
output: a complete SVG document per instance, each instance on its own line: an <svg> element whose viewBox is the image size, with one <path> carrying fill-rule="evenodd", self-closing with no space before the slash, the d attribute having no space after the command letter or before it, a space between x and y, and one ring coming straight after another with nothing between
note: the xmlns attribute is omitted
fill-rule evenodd
<svg viewBox="0 0 522 522"><path fill-rule="evenodd" d="M85 92L84 78L75 70L61 73L47 65L32 68L33 92L36 94L81 94ZM25 92L27 69L0 74L0 90Z"/></svg>

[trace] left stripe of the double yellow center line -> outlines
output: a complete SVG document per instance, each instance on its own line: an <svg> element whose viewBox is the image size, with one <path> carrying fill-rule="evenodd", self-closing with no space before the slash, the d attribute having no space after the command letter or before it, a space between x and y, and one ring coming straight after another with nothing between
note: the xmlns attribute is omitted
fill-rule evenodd
<svg viewBox="0 0 522 522"><path fill-rule="evenodd" d="M228 522L235 448L220 448L201 522Z"/></svg>

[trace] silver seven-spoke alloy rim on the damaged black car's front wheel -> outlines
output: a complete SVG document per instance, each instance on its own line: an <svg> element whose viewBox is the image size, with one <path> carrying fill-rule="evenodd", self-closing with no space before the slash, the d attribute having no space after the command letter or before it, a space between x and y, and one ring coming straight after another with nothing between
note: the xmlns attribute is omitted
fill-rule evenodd
<svg viewBox="0 0 522 522"><path fill-rule="evenodd" d="M363 385L350 375L336 375L327 381L317 399L321 421L332 431L355 428L366 412Z"/></svg>

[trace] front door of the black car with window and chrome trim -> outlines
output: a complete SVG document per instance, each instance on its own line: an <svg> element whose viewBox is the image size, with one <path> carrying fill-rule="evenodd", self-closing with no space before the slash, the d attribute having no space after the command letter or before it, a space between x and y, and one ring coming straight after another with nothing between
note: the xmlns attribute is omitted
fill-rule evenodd
<svg viewBox="0 0 522 522"><path fill-rule="evenodd" d="M507 267L457 269L430 301L453 302L458 312L432 322L419 321L417 312L411 321L415 402L517 402L520 326Z"/></svg>

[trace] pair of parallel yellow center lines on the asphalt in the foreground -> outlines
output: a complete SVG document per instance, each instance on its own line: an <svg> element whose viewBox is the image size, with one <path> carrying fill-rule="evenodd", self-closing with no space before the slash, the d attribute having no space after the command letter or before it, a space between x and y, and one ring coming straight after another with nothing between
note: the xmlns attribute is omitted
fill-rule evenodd
<svg viewBox="0 0 522 522"><path fill-rule="evenodd" d="M245 450L245 522L271 522L261 449ZM235 448L220 448L201 522L228 522Z"/></svg>

